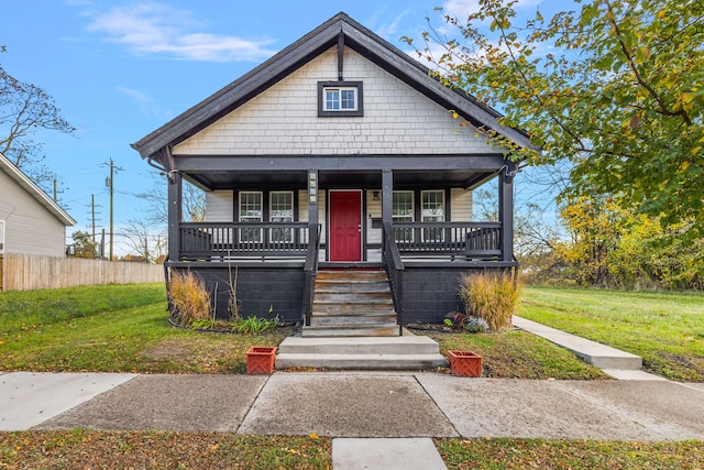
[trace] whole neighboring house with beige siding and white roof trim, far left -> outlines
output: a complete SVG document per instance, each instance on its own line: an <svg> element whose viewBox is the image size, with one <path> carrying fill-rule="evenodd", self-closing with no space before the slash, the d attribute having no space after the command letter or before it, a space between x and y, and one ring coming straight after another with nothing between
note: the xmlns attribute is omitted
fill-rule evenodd
<svg viewBox="0 0 704 470"><path fill-rule="evenodd" d="M76 221L0 153L0 253L66 254Z"/></svg>

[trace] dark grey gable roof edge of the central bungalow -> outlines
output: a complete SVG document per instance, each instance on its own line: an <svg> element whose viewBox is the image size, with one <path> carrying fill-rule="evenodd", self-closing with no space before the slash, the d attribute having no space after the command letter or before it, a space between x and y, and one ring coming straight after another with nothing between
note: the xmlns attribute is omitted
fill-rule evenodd
<svg viewBox="0 0 704 470"><path fill-rule="evenodd" d="M227 85L154 132L133 143L143 159L160 160L158 153L201 131L254 98L294 70L338 44L344 45L414 87L446 109L458 112L473 125L486 127L524 147L535 147L522 131L501 125L501 114L472 96L451 89L429 76L430 69L345 13L338 13L260 66ZM164 162L162 162L164 163Z"/></svg>

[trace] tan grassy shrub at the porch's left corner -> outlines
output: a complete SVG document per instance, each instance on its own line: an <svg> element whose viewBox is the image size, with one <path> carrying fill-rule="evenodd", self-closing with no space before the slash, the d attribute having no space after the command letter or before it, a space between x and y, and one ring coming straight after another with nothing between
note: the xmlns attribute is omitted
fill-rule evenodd
<svg viewBox="0 0 704 470"><path fill-rule="evenodd" d="M168 296L180 325L211 319L210 294L204 281L190 271L172 273Z"/></svg>

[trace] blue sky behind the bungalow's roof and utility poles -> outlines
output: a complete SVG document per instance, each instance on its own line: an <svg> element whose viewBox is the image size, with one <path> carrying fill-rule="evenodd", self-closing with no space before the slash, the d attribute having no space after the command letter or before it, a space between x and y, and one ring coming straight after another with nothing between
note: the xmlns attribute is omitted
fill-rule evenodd
<svg viewBox="0 0 704 470"><path fill-rule="evenodd" d="M535 11L540 0L522 0ZM543 3L560 3L548 0ZM68 136L35 135L45 164L59 177L59 198L88 230L95 195L109 223L106 177L114 177L114 222L144 218L135 195L155 183L154 172L130 147L180 112L233 81L340 11L404 48L420 40L433 8L460 14L476 0L304 1L237 0L23 0L3 2L0 64L15 78L44 88L77 128ZM541 10L543 8L541 7ZM99 230L98 229L98 230ZM116 230L118 231L118 230ZM116 252L125 251L116 240Z"/></svg>

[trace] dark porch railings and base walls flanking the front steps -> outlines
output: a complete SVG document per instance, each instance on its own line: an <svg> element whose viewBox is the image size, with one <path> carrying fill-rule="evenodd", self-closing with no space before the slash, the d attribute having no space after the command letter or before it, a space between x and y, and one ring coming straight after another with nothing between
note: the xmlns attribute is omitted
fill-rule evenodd
<svg viewBox="0 0 704 470"><path fill-rule="evenodd" d="M472 271L513 270L503 261L501 222L397 222L382 225L381 247L364 262L326 261L321 226L308 222L182 222L172 270L197 272L227 317L230 284L248 315L278 315L310 326L320 270L384 271L399 327L440 323L461 309L459 277ZM398 328L400 332L400 328Z"/></svg>

